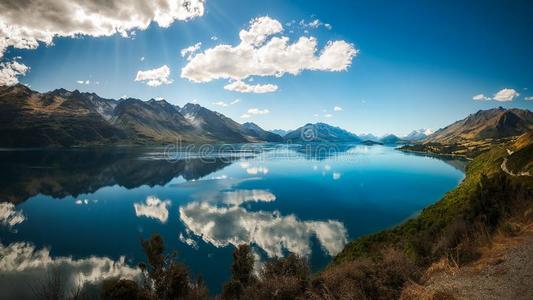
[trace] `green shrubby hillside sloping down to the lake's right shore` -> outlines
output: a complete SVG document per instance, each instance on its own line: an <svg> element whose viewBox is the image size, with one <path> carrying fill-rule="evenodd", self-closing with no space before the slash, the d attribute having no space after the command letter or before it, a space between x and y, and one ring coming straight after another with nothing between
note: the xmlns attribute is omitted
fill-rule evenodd
<svg viewBox="0 0 533 300"><path fill-rule="evenodd" d="M490 234L518 208L531 206L533 178L513 177L501 170L508 146L497 145L477 156L467 166L464 181L418 217L349 243L333 266L362 257L379 259L380 249L387 247L400 249L417 264L426 265L460 246L465 236L475 236L479 231ZM531 161L531 156L521 157ZM461 229L465 232L457 232L458 227L465 227Z"/></svg>

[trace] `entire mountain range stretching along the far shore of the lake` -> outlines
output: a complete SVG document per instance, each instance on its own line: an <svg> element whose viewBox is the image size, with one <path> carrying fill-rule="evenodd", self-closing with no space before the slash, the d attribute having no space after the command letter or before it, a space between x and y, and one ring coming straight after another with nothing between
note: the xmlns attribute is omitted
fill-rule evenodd
<svg viewBox="0 0 533 300"><path fill-rule="evenodd" d="M95 93L57 89L39 93L17 84L0 86L0 147L143 145L175 143L366 142L453 144L518 136L533 130L529 110L480 110L432 133L406 136L356 135L325 123L272 132L240 124L198 104L166 100L108 99Z"/></svg>

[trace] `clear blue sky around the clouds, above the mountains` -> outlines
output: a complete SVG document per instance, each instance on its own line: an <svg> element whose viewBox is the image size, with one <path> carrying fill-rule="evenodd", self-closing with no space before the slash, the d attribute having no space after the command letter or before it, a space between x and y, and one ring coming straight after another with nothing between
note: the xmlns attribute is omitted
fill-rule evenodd
<svg viewBox="0 0 533 300"><path fill-rule="evenodd" d="M30 70L19 81L38 91L64 87L109 98L163 97L177 105L196 100L266 129L326 122L355 133L406 134L438 129L479 109L531 110L533 101L525 98L533 96L532 15L531 1L207 0L202 16L167 28L151 24L129 38L56 37L53 45L36 49L10 47L3 60L20 56ZM180 76L189 63L181 57L182 49L198 42L200 52L219 44L236 46L239 31L263 16L283 25L274 36L287 36L289 43L312 36L318 52L331 40L353 44L358 53L341 72L304 70L244 80L276 85L278 90L270 93L229 91L225 79L195 83ZM315 19L322 24L318 28L298 24ZM287 26L292 20L296 23ZM138 71L163 65L170 69L172 83L152 87L135 81ZM89 84L77 83L87 80ZM505 88L519 96L512 101L472 99L478 94L493 98ZM240 101L229 105L236 99ZM253 108L268 113L248 114Z"/></svg>

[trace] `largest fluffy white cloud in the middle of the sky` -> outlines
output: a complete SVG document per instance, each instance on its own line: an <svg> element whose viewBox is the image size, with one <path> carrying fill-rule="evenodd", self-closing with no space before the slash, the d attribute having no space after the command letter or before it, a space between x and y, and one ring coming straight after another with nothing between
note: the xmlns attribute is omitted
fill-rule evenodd
<svg viewBox="0 0 533 300"><path fill-rule="evenodd" d="M217 45L196 54L181 70L181 77L193 82L216 79L245 80L251 76L298 75L304 70L345 71L358 51L343 40L329 41L317 51L314 37L300 37L290 43L277 20L261 17L239 33L237 46Z"/></svg>

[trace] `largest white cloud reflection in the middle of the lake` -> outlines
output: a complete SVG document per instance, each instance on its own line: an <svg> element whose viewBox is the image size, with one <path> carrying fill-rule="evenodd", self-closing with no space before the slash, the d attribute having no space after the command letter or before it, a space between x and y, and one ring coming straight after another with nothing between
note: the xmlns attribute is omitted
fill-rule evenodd
<svg viewBox="0 0 533 300"><path fill-rule="evenodd" d="M216 247L254 244L269 257L283 256L286 251L301 256L311 254L311 238L316 236L328 255L339 253L347 242L341 222L301 221L295 215L282 216L278 211L249 211L242 207L250 202L272 202L274 194L266 190L222 192L221 205L213 201L196 201L180 207L180 219L191 234Z"/></svg>

